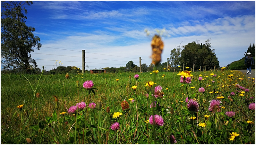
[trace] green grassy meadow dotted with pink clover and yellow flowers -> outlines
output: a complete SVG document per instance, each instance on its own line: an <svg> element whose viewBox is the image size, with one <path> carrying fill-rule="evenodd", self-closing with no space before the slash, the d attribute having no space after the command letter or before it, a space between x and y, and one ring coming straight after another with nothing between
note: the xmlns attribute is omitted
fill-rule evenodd
<svg viewBox="0 0 256 145"><path fill-rule="evenodd" d="M191 72L189 84L178 73L1 74L1 144L255 144L254 78Z"/></svg>

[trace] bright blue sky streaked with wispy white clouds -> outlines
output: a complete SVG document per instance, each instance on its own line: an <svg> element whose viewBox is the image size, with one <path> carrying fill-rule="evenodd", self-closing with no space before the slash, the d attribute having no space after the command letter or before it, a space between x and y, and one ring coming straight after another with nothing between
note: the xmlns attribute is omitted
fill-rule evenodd
<svg viewBox="0 0 256 145"><path fill-rule="evenodd" d="M223 67L255 43L255 1L34 1L26 9L26 24L36 29L43 46L31 55L46 70L56 60L57 66L61 61L81 68L82 49L89 69L125 66L130 60L139 66L139 57L149 65L155 29L166 30L162 63L180 43L210 38Z"/></svg>

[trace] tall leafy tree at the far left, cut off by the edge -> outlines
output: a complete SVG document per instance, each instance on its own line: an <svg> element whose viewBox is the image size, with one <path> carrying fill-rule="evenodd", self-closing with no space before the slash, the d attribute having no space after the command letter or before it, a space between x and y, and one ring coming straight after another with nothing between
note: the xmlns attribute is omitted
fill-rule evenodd
<svg viewBox="0 0 256 145"><path fill-rule="evenodd" d="M21 68L30 72L32 66L37 67L30 52L34 52L34 47L39 50L41 43L39 37L34 37L35 28L25 24L24 4L33 2L1 1L1 65L4 69Z"/></svg>

